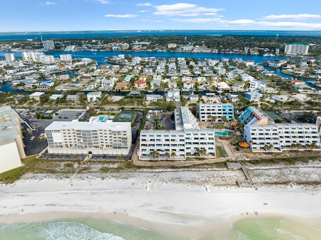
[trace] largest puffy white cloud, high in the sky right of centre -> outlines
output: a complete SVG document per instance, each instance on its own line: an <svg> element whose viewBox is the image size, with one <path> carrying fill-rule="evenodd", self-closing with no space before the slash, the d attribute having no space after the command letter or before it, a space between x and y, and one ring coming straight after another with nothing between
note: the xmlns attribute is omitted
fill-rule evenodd
<svg viewBox="0 0 321 240"><path fill-rule="evenodd" d="M216 13L224 9L207 9L199 7L195 4L173 4L173 5L161 5L154 6L156 12L154 15L166 15L166 16L197 16L201 14Z"/></svg>

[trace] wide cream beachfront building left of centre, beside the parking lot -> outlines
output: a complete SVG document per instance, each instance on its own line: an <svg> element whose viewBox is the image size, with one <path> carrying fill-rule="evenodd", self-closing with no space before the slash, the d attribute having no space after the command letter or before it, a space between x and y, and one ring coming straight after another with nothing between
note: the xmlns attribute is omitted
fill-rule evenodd
<svg viewBox="0 0 321 240"><path fill-rule="evenodd" d="M130 122L53 122L46 129L50 154L127 155Z"/></svg>

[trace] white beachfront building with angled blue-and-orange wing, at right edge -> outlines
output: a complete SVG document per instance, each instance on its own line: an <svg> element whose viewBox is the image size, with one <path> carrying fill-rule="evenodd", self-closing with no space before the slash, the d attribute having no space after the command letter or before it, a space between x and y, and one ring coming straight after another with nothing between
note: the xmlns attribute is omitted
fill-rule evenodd
<svg viewBox="0 0 321 240"><path fill-rule="evenodd" d="M299 146L307 148L312 145L315 145L313 149L321 149L315 124L274 123L265 113L254 107L248 107L239 116L239 120L244 126L243 137L252 151L293 150Z"/></svg>

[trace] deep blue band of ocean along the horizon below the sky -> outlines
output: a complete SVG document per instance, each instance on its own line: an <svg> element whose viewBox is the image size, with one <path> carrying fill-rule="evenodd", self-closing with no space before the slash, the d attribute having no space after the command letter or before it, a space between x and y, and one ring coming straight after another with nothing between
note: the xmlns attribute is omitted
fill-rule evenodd
<svg viewBox="0 0 321 240"><path fill-rule="evenodd" d="M69 39L130 36L171 35L265 35L265 36L321 36L321 31L262 31L262 30L130 30L130 31L64 31L64 32L11 32L0 33L0 41L27 39Z"/></svg>

